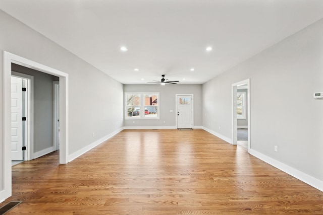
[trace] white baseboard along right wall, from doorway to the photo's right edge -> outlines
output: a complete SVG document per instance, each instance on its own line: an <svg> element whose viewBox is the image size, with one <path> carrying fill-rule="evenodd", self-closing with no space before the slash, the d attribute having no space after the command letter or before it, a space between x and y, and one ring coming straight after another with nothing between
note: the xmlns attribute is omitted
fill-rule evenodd
<svg viewBox="0 0 323 215"><path fill-rule="evenodd" d="M271 157L268 157L266 155L263 155L262 153L259 153L253 149L250 149L249 151L250 155L266 162L267 164L270 164L274 167L276 167L277 169L282 170L283 172L303 181L304 183L320 190L323 192L323 181L320 181L310 175L307 175L306 173L303 173L297 169L294 169L286 164L283 164Z"/></svg>

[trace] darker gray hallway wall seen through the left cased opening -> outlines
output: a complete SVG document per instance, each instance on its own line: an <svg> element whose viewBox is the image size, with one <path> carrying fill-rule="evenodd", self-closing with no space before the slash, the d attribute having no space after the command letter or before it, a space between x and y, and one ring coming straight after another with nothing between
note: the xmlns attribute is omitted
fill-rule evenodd
<svg viewBox="0 0 323 215"><path fill-rule="evenodd" d="M53 78L12 63L12 70L34 77L34 153L53 145Z"/></svg>

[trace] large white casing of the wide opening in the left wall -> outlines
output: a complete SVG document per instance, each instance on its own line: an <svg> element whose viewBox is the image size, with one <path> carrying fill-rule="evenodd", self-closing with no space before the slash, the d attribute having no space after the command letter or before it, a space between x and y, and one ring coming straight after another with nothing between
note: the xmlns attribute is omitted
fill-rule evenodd
<svg viewBox="0 0 323 215"><path fill-rule="evenodd" d="M11 63L32 68L42 73L58 76L60 78L60 164L68 162L68 74L57 69L45 66L24 57L3 51L3 169L0 176L3 177L3 190L0 191L0 201L12 195L12 166L11 166ZM0 169L1 171L1 169Z"/></svg>

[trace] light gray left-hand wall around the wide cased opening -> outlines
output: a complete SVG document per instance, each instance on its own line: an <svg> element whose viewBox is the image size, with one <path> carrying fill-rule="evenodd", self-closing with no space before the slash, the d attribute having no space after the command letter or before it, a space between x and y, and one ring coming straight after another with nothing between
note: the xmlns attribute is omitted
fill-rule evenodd
<svg viewBox="0 0 323 215"><path fill-rule="evenodd" d="M123 128L123 85L0 10L0 89L3 51L69 75L69 155ZM109 63L109 62L108 62ZM3 94L0 103L3 104ZM0 106L3 122L3 105ZM3 136L3 123L0 135ZM95 133L95 137L92 137ZM9 143L6 143L9 144ZM4 142L0 139L0 201L4 200Z"/></svg>

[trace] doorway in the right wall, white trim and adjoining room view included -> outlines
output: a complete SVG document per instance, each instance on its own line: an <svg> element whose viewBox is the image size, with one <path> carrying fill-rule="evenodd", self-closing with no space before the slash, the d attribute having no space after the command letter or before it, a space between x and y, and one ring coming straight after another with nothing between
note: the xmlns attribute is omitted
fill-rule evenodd
<svg viewBox="0 0 323 215"><path fill-rule="evenodd" d="M232 144L246 148L250 141L250 79L232 84Z"/></svg>

